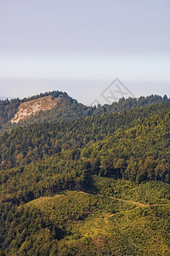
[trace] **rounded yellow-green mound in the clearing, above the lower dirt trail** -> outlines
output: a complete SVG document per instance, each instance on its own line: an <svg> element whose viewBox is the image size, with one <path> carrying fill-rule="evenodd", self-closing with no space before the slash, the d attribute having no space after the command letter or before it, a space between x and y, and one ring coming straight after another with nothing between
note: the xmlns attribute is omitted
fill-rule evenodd
<svg viewBox="0 0 170 256"><path fill-rule="evenodd" d="M84 221L95 216L105 217L108 213L116 213L135 208L129 202L117 201L109 196L89 195L76 191L65 191L53 197L42 197L26 204L37 207L60 227Z"/></svg>

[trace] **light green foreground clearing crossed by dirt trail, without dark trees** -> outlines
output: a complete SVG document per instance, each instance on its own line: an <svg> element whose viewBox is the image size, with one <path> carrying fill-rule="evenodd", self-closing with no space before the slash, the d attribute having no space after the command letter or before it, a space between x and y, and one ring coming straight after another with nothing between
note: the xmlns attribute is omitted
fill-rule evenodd
<svg viewBox="0 0 170 256"><path fill-rule="evenodd" d="M132 198L131 198L132 200ZM110 196L67 191L31 201L69 231L59 255L168 255L170 205L139 207Z"/></svg>

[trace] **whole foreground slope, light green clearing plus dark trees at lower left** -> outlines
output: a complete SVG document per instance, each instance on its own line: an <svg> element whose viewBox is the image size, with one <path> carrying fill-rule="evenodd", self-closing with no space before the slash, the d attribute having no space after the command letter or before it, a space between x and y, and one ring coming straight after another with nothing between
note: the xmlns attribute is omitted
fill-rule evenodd
<svg viewBox="0 0 170 256"><path fill-rule="evenodd" d="M94 188L40 197L3 216L6 255L170 255L169 185L94 177Z"/></svg>

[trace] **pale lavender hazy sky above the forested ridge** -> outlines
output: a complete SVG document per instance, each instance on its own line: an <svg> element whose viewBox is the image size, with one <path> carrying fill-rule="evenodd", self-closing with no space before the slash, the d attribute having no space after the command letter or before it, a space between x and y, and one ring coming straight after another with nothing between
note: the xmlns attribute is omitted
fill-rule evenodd
<svg viewBox="0 0 170 256"><path fill-rule="evenodd" d="M0 0L0 96L170 96L169 0Z"/></svg>

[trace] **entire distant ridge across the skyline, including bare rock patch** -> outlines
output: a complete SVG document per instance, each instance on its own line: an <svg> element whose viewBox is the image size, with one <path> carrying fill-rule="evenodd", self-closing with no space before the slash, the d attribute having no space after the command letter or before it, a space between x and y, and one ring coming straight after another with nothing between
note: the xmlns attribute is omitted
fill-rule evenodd
<svg viewBox="0 0 170 256"><path fill-rule="evenodd" d="M167 96L141 96L139 99L120 99L111 105L87 107L78 103L65 92L52 91L24 98L0 100L0 132L32 123L60 122L63 120L75 120L81 117L91 116L94 113L111 113L122 109L139 108L150 104L167 102Z"/></svg>

